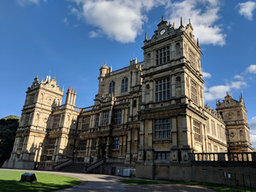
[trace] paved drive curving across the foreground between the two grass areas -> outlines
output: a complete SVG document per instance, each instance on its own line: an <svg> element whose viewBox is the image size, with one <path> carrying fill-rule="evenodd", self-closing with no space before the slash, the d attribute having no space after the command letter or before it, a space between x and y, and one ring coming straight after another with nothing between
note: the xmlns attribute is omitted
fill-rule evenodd
<svg viewBox="0 0 256 192"><path fill-rule="evenodd" d="M12 169L10 169L12 170ZM56 190L56 192L110 192L110 191L122 191L122 192L161 192L161 191L177 191L177 192L213 192L214 190L208 190L202 186L184 186L184 185L169 185L169 184L154 184L154 185L138 185L127 186L120 182L121 179L126 179L118 176L106 175L106 174L80 174L80 173L68 173L60 171L42 171L42 170L21 170L24 172L39 172L46 174L61 174L70 176L73 178L79 178L82 183L78 186L74 186L65 190Z"/></svg>

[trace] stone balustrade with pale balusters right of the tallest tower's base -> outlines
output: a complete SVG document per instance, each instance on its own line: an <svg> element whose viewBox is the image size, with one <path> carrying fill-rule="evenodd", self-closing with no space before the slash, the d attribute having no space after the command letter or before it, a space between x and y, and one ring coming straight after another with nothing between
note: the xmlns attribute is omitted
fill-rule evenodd
<svg viewBox="0 0 256 192"><path fill-rule="evenodd" d="M191 162L256 162L256 153L196 153Z"/></svg>

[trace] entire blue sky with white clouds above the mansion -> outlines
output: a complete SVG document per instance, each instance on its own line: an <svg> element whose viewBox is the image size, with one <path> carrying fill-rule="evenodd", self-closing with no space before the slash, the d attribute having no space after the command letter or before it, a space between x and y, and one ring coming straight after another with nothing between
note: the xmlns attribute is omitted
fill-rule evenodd
<svg viewBox="0 0 256 192"><path fill-rule="evenodd" d="M93 105L99 68L118 70L142 62L145 32L154 34L162 15L179 26L191 18L202 48L204 95L242 93L256 146L256 0L2 0L0 2L0 118L20 116L34 77L56 75L78 90L76 105Z"/></svg>

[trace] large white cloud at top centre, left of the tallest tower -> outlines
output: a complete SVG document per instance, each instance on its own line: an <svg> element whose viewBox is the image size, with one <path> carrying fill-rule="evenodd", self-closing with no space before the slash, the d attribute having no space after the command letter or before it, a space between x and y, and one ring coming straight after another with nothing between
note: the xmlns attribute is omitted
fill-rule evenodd
<svg viewBox="0 0 256 192"><path fill-rule="evenodd" d="M102 30L102 33L109 38L126 43L134 42L138 34L142 33L142 25L147 21L145 13L166 1L73 0L73 2L77 2L79 7L82 6L83 17L88 23Z"/></svg>

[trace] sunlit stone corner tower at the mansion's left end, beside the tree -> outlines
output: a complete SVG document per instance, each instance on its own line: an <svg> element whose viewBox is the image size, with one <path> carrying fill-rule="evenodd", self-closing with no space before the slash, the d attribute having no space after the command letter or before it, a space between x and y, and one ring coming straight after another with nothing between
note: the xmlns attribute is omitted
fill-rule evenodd
<svg viewBox="0 0 256 192"><path fill-rule="evenodd" d="M14 150L7 167L33 169L42 154L43 142L51 126L52 108L62 103L63 90L50 76L39 82L38 75L26 91L26 101L18 126Z"/></svg>

